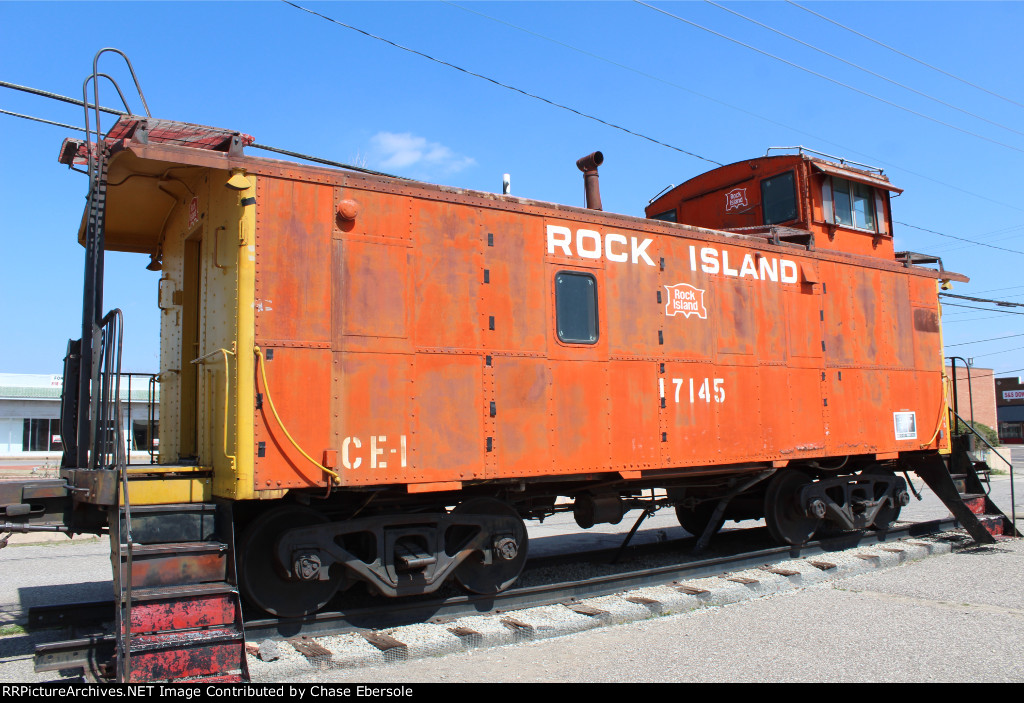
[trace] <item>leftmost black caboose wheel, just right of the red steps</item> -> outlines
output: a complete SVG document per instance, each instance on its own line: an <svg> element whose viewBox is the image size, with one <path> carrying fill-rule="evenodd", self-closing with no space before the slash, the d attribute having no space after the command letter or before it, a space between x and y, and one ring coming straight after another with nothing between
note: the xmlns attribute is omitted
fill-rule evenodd
<svg viewBox="0 0 1024 703"><path fill-rule="evenodd" d="M256 518L239 548L239 588L245 599L278 617L302 617L326 606L341 586L340 568L326 581L293 580L274 556L285 530L326 522L326 517L301 506L283 506Z"/></svg>

